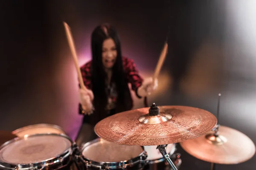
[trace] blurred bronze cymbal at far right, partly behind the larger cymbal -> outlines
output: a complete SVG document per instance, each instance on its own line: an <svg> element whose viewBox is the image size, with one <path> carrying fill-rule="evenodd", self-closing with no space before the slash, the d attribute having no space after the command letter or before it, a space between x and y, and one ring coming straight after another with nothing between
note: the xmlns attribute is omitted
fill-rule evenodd
<svg viewBox="0 0 256 170"><path fill-rule="evenodd" d="M255 154L255 145L244 133L220 126L218 136L214 132L181 142L180 146L190 155L215 164L239 164Z"/></svg>

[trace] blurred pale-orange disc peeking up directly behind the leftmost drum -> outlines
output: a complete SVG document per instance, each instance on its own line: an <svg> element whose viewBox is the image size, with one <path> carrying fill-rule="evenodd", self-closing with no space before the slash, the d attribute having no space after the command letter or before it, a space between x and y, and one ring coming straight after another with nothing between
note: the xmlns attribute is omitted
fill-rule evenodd
<svg viewBox="0 0 256 170"><path fill-rule="evenodd" d="M21 127L17 130L12 131L12 134L23 137L25 135L34 135L41 133L57 133L57 134L65 134L64 130L57 125L50 124L35 124L29 125L25 127Z"/></svg>

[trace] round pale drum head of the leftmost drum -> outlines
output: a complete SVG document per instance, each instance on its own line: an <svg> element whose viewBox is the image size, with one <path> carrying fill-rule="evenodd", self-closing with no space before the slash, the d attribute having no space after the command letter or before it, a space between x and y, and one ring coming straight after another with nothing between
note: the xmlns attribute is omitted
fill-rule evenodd
<svg viewBox="0 0 256 170"><path fill-rule="evenodd" d="M71 146L70 139L60 135L28 136L3 144L0 161L8 164L38 163L61 155Z"/></svg>

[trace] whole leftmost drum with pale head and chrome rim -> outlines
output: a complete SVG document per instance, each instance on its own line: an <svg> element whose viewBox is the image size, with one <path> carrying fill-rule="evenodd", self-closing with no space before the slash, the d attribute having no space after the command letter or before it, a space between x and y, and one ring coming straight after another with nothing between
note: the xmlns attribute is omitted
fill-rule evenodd
<svg viewBox="0 0 256 170"><path fill-rule="evenodd" d="M0 147L3 170L70 170L73 142L64 134L36 134L15 138Z"/></svg>

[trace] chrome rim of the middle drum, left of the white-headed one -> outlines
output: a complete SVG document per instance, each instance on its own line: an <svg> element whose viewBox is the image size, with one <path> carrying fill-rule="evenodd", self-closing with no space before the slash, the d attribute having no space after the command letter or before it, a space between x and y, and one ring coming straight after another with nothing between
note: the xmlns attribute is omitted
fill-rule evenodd
<svg viewBox="0 0 256 170"><path fill-rule="evenodd" d="M143 146L139 146L142 148L142 152L140 153L140 155L136 156L133 159L129 159L129 160L124 160L124 161L119 161L119 162L102 162L102 161L93 161L87 157L85 157L83 155L83 151L85 149L85 147L90 146L90 144L96 143L101 141L101 138L97 138L94 139L92 141L89 141L87 143L85 143L82 147L81 147L81 159L83 159L83 161L89 161L89 166L108 166L109 168L116 168L120 166L120 163L123 163L123 165L125 165L126 167L129 167L130 164L135 165L135 164L139 164L142 161L146 161L145 159L143 159L143 157L147 156L147 153L145 152L145 149ZM137 162L139 160L139 162ZM87 163L87 162L85 162Z"/></svg>

